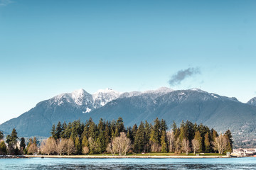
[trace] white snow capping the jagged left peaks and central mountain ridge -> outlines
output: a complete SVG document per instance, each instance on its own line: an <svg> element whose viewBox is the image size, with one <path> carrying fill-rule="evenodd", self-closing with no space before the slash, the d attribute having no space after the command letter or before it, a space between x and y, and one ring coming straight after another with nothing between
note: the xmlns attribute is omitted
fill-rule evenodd
<svg viewBox="0 0 256 170"><path fill-rule="evenodd" d="M82 113L90 113L91 111L105 106L105 104L113 101L117 98L127 98L132 96L151 96L151 98L156 98L164 94L168 94L172 89L161 87L156 90L151 91L132 91L121 93L119 91L114 91L113 89L100 89L95 92L95 94L89 94L84 89L78 89L72 93L65 93L50 98L50 106L62 106L62 105L72 105L75 108L80 108Z"/></svg>

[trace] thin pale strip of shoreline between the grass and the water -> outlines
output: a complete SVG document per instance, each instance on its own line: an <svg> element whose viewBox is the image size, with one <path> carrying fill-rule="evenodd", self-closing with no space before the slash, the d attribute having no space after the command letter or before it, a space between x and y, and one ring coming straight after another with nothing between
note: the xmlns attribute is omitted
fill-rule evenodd
<svg viewBox="0 0 256 170"><path fill-rule="evenodd" d="M154 159L166 159L166 158L229 158L228 156L91 156L91 155L24 155L28 158L83 158L83 159L122 159L122 158L154 158Z"/></svg>

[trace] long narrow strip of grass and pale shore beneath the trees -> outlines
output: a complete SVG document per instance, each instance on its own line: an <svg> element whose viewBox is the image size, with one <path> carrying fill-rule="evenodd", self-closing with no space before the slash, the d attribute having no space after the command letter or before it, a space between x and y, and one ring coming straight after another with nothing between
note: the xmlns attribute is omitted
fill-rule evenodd
<svg viewBox="0 0 256 170"><path fill-rule="evenodd" d="M89 155L26 155L26 157L46 157L46 158L227 158L224 154L200 154L196 156L194 154L174 154L174 153L147 153L147 154L127 154L125 156L119 156L115 154L89 154Z"/></svg>

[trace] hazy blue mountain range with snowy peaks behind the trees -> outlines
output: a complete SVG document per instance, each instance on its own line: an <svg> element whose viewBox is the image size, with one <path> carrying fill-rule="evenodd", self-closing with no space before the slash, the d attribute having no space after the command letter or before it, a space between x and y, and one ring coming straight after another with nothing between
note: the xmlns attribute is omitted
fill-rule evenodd
<svg viewBox="0 0 256 170"><path fill-rule="evenodd" d="M89 94L83 89L60 94L41 101L30 111L0 125L10 133L16 128L19 136L50 136L50 129L58 121L66 123L92 118L113 120L122 117L126 126L156 117L172 121L203 123L219 132L230 129L236 141L255 140L256 98L241 103L236 98L211 94L200 89L178 90L162 87L154 91L120 93L112 89Z"/></svg>

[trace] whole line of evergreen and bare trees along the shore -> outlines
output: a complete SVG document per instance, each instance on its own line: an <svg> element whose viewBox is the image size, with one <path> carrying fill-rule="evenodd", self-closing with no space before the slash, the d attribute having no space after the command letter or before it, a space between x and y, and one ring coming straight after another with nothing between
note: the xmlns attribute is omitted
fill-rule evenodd
<svg viewBox="0 0 256 170"><path fill-rule="evenodd" d="M154 123L141 122L139 127L124 128L122 118L94 123L90 118L85 123L75 120L73 123L53 125L50 137L38 143L36 137L26 144L24 137L18 138L14 129L6 136L0 131L0 154L40 154L40 155L134 155L145 153L219 153L232 152L230 130L218 134L206 125L186 121L181 125L175 122L166 125L165 120L156 118ZM145 157L149 157L145 154ZM159 155L161 156L161 155Z"/></svg>

